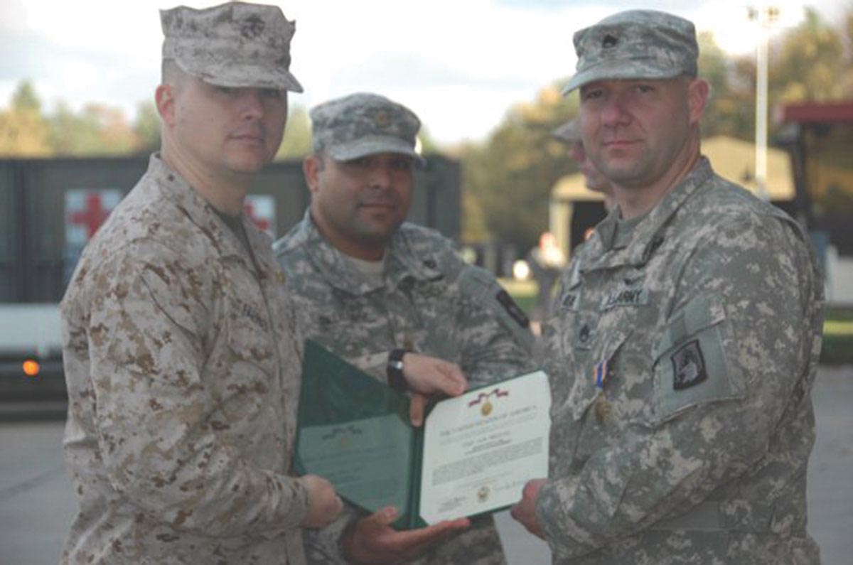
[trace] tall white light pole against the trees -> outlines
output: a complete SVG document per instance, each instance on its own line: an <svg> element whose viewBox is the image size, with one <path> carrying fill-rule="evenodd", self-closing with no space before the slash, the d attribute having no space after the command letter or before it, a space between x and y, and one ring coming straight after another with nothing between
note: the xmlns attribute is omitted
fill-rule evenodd
<svg viewBox="0 0 853 565"><path fill-rule="evenodd" d="M756 194L768 200L767 193L767 67L770 26L779 18L775 6L750 8L749 17L757 21L758 43L756 46L755 78L755 183Z"/></svg>

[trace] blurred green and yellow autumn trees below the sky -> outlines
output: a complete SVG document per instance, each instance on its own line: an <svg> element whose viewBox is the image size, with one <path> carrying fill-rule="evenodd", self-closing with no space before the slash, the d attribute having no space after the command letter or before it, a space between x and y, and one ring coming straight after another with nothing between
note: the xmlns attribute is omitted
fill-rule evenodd
<svg viewBox="0 0 853 565"><path fill-rule="evenodd" d="M699 37L699 74L711 83L703 134L754 138L756 62L732 57L709 34ZM561 96L569 77L544 87L534 100L519 102L484 141L438 147L422 131L425 152L442 151L461 161L462 239L496 240L530 248L548 229L548 197L554 183L576 172L566 147L551 136L577 114L577 95ZM853 99L853 4L839 22L814 10L770 46L769 108L792 102ZM770 139L779 125L770 121ZM160 146L160 119L153 102L138 105L128 119L120 108L90 103L78 112L60 103L46 112L29 81L22 81L0 109L0 156L49 157L148 154ZM293 105L287 135L277 155L299 158L310 151L304 107Z"/></svg>

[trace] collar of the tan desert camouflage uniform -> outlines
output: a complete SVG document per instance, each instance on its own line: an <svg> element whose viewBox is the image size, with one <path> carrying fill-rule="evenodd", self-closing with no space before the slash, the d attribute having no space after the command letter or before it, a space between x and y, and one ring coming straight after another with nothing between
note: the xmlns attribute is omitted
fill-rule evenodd
<svg viewBox="0 0 853 565"><path fill-rule="evenodd" d="M187 183L184 178L171 170L160 158L160 154L152 154L148 161L148 175L161 187L164 198L168 199L186 214L189 221L197 225L204 234L210 238L213 247L217 249L221 257L236 256L247 261L246 250L233 231L219 217L216 210L196 190ZM270 236L259 230L245 214L241 214L243 227L258 267L262 271L274 271L276 265L272 253L269 251Z"/></svg>

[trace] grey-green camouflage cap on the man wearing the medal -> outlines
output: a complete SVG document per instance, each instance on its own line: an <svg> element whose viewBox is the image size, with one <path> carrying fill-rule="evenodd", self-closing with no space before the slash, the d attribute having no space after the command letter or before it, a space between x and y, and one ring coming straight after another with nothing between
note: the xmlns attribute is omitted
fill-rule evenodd
<svg viewBox="0 0 853 565"><path fill-rule="evenodd" d="M595 80L696 76L696 29L666 12L619 12L576 32L574 44L577 74L563 94Z"/></svg>

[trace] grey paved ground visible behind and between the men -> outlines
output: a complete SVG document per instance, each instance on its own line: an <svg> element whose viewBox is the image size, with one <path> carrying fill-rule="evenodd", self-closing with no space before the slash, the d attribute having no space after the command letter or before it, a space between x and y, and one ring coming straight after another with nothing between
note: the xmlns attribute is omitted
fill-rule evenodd
<svg viewBox="0 0 853 565"><path fill-rule="evenodd" d="M824 565L853 554L853 366L821 368L818 436L809 462L809 531ZM3 409L0 407L0 415ZM62 422L0 423L0 563L57 562L76 499L61 455ZM510 565L544 565L548 548L497 516Z"/></svg>

